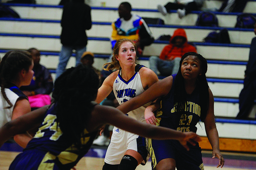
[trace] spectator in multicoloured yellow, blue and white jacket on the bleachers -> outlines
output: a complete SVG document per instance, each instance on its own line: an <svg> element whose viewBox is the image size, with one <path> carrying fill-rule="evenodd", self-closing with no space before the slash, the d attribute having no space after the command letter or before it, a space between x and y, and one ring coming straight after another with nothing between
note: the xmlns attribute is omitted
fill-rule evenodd
<svg viewBox="0 0 256 170"><path fill-rule="evenodd" d="M122 2L119 5L120 18L112 23L111 44L113 49L117 40L122 38L132 40L137 46L137 57L140 57L144 47L152 44L154 38L146 22L140 16L132 14L131 11L132 6L128 2Z"/></svg>

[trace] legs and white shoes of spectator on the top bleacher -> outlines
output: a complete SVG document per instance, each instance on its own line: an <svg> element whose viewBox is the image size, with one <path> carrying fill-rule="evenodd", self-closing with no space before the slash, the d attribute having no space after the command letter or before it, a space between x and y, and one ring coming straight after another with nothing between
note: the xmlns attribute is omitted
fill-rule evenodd
<svg viewBox="0 0 256 170"><path fill-rule="evenodd" d="M157 5L157 10L166 15L170 10L177 10L179 18L183 18L191 11L201 11L204 0L175 0L166 5Z"/></svg>

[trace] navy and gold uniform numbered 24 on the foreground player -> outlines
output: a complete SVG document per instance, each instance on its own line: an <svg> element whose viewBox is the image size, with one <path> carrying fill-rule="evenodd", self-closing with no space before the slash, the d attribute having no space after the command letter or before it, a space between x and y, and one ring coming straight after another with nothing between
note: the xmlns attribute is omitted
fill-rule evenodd
<svg viewBox="0 0 256 170"><path fill-rule="evenodd" d="M62 133L60 127L57 126L55 107L56 105L53 105L46 112L35 137L15 158L10 169L24 167L24 169L70 170L88 152L97 131L89 133L85 129L85 135L81 137L83 146L77 149L69 136ZM31 157L33 162L27 160L28 157Z"/></svg>

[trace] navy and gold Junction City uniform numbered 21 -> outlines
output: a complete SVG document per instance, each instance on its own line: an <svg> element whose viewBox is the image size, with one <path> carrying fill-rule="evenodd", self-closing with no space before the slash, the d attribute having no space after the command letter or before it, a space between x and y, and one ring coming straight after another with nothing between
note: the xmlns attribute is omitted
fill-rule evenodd
<svg viewBox="0 0 256 170"><path fill-rule="evenodd" d="M187 94L185 110L176 112L174 107L174 83L175 75L172 75L173 83L170 92L162 98L161 108L156 112L159 126L171 128L182 132L196 132L196 124L200 120L201 107L199 100L199 88L196 87L191 94ZM177 140L154 140L148 141L148 152L152 159L152 167L162 159L175 159L178 170L204 170L202 153L199 144L189 145L187 151Z"/></svg>

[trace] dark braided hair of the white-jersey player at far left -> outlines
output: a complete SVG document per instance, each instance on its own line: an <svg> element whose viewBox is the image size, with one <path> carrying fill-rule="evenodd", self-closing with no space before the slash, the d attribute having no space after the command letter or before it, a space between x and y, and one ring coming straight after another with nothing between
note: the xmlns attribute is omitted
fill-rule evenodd
<svg viewBox="0 0 256 170"><path fill-rule="evenodd" d="M0 87L4 99L10 105L6 108L11 108L13 105L7 98L4 88L8 83L19 78L18 73L21 70L28 71L32 62L32 56L27 51L12 50L4 55L0 63Z"/></svg>

